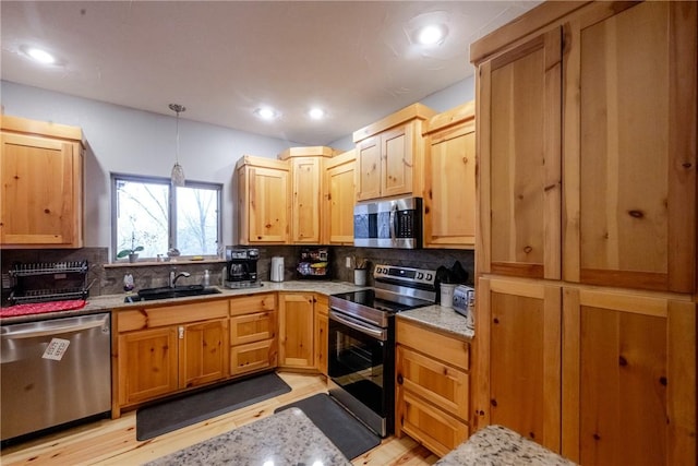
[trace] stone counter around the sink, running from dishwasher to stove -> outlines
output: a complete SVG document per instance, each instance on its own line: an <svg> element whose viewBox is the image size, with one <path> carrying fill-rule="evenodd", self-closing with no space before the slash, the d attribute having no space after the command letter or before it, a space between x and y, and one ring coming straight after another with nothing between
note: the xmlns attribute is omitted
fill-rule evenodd
<svg viewBox="0 0 698 466"><path fill-rule="evenodd" d="M128 296L124 294L119 295L103 295L87 298L87 304L79 310L74 311L59 311L49 312L45 314L32 314L21 315L16 318L0 319L2 325L32 322L45 319L58 319L69 318L74 315L94 314L100 311L118 310L118 309L133 309L143 308L144 306L163 306L163 304L183 304L192 301L209 301L216 299L233 298L236 296L253 295L260 292L274 292L274 291L305 291L305 292L318 292L321 295L335 295L338 292L356 291L358 289L365 289L366 287L354 286L348 282L327 282L327 280L292 280L292 282L262 282L261 287L256 288L243 288L243 289L229 289L214 286L220 294L204 295L204 296L191 296L185 298L172 298L172 299L157 299L152 301L136 301L124 302L124 298Z"/></svg>

